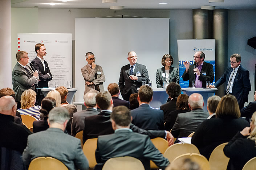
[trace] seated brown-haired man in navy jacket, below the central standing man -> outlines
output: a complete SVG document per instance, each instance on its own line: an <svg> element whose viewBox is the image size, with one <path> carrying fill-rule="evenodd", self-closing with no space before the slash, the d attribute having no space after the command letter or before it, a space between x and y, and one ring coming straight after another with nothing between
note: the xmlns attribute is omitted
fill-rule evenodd
<svg viewBox="0 0 256 170"><path fill-rule="evenodd" d="M131 123L146 130L163 130L163 111L153 109L149 103L153 99L153 89L147 85L139 88L139 107L131 110Z"/></svg>

